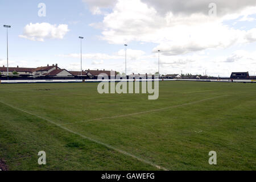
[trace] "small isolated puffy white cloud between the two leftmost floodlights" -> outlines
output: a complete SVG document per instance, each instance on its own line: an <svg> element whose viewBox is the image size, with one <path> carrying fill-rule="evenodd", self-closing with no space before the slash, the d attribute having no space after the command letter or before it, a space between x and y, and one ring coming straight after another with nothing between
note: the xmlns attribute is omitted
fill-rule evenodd
<svg viewBox="0 0 256 182"><path fill-rule="evenodd" d="M44 41L44 39L63 39L68 32L67 24L49 24L49 23L30 23L24 27L20 38L26 38L34 41Z"/></svg>

